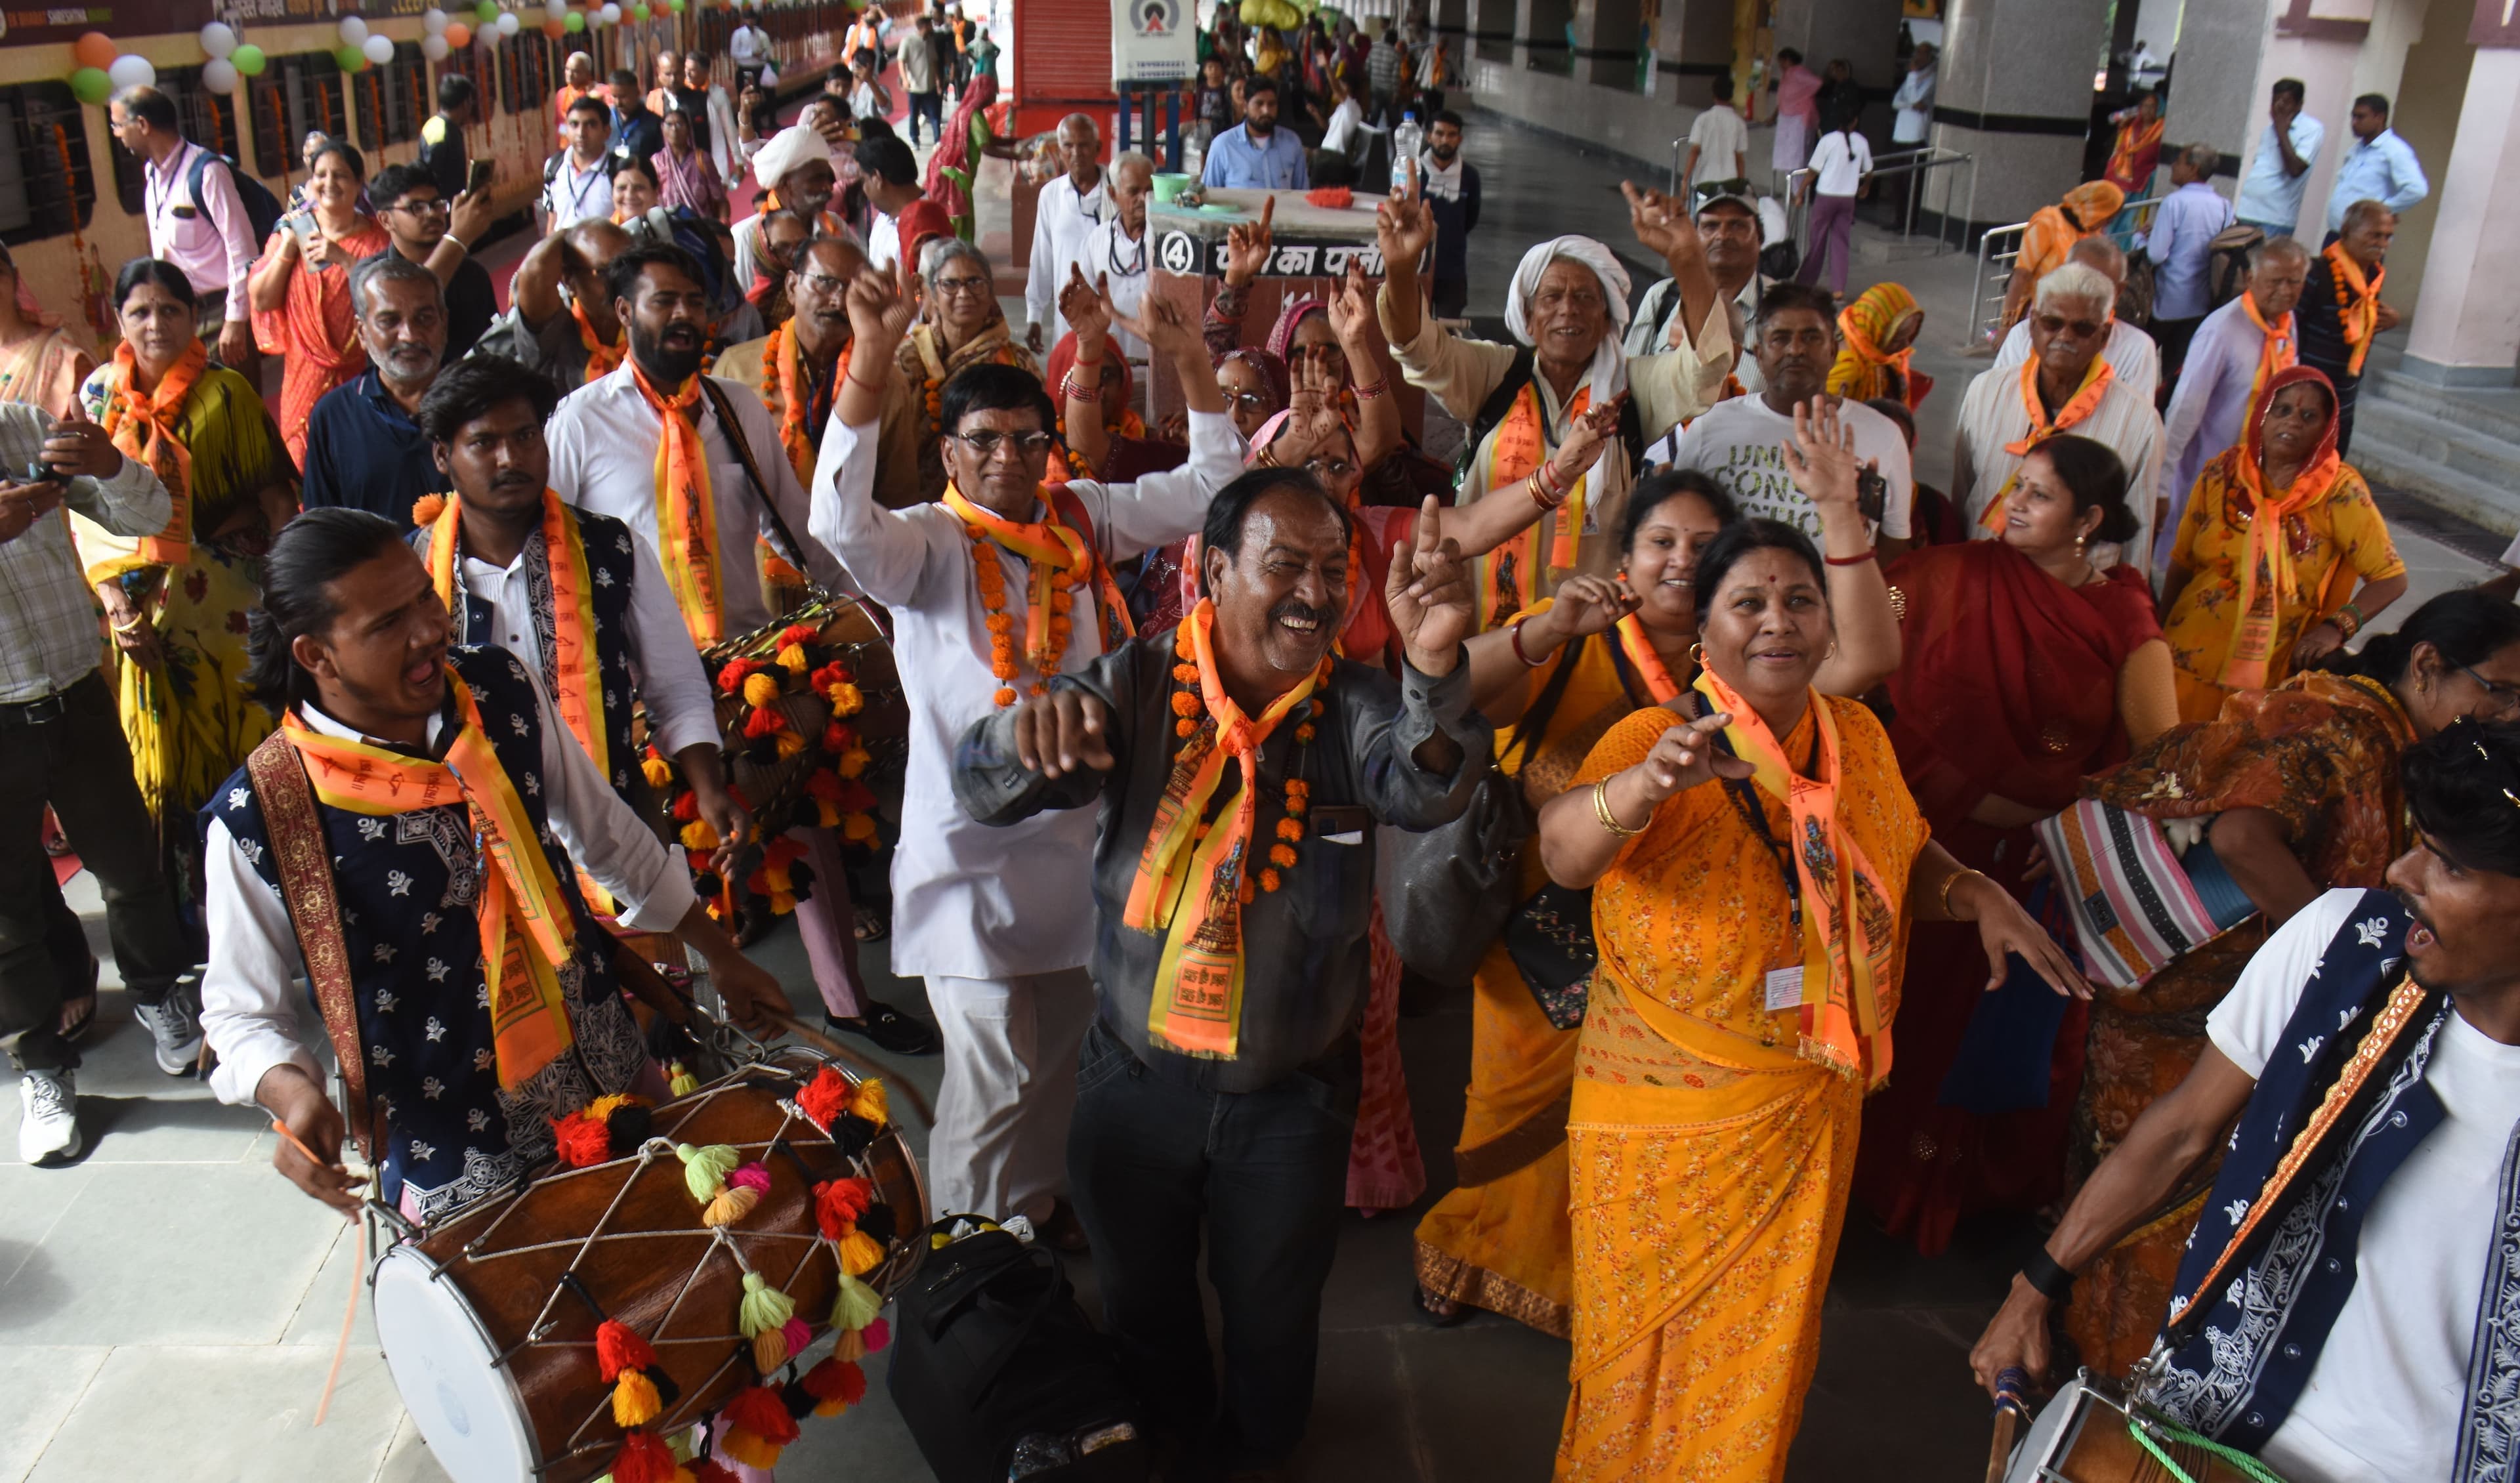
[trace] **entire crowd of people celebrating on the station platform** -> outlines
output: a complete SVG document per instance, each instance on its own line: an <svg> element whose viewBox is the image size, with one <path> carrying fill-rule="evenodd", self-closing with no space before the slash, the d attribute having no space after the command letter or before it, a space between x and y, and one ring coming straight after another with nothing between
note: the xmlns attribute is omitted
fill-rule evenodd
<svg viewBox="0 0 2520 1483"><path fill-rule="evenodd" d="M1973 1355L1991 1390L2152 1357L2150 1405L2308 1483L2439 1478L2512 1423L2470 1350L2520 1219L2520 609L2465 589L2364 634L2407 567L2346 463L2354 388L2424 189L2384 101L2354 111L2374 194L2318 249L2301 83L2238 211L2172 149L2150 332L2112 234L2165 151L2139 103L2034 222L1938 491L1923 310L1845 295L1870 151L1799 58L1777 118L1835 287L1761 272L1719 86L1691 194L1625 189L1663 279L1537 242L1492 342L1457 317L1479 179L1441 45L1222 8L1212 184L1356 159L1308 126L1426 121L1373 206L1386 277L1263 332L1260 211L1205 305L1149 295L1154 164L1074 116L1018 335L970 239L980 161L1033 154L988 118L985 30L874 15L786 126L759 35L733 98L721 58L645 93L572 58L507 310L464 78L413 164L307 141L267 242L164 93L116 93L151 257L111 355L0 252L30 1163L83 1148L98 974L45 811L159 1068L267 1108L277 1168L340 1209L360 1138L368 1196L423 1226L542 1166L557 1118L675 1090L615 939L678 939L766 1030L789 1000L743 947L794 911L832 1030L942 1055L932 1209L1091 1251L1164 1455L1273 1475L1341 1209L1424 1193L1396 1020L1444 937L1472 1070L1406 1282L1431 1324L1572 1342L1560 1478L1779 1475L1850 1206L1928 1256L2061 1211ZM1918 48L1903 128L1930 73ZM781 733L753 682L786 660L728 662L801 655L816 594L882 614L892 758L839 718ZM764 755L824 768L824 808L764 828L736 783ZM2087 813L2150 856L2061 851ZM1487 906L1452 856L1497 861ZM2071 899L2112 869L2210 876L2238 916L2117 982ZM927 1017L869 995L872 939Z"/></svg>

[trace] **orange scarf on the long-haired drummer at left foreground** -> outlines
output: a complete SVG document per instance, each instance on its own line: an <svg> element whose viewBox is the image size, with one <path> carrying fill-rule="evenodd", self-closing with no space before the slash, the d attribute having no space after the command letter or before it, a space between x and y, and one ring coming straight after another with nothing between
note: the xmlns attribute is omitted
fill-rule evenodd
<svg viewBox="0 0 2520 1483"><path fill-rule="evenodd" d="M474 922L481 929L499 1085L514 1090L575 1040L554 969L570 962L577 924L552 876L552 859L534 838L534 818L481 730L481 708L454 670L446 672L446 687L456 700L459 728L444 763L315 733L297 713L280 718L280 735L297 748L315 796L333 808L370 818L456 801L469 808L481 851L496 866L481 871Z"/></svg>

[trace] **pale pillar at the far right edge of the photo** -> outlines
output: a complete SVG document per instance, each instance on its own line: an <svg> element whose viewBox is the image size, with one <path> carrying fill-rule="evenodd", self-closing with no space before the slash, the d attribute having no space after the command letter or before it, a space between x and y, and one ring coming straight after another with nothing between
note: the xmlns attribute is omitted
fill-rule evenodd
<svg viewBox="0 0 2520 1483"><path fill-rule="evenodd" d="M2460 136L2432 181L2439 201L2407 375L2434 385L2512 385L2520 360L2520 50L2480 48Z"/></svg>

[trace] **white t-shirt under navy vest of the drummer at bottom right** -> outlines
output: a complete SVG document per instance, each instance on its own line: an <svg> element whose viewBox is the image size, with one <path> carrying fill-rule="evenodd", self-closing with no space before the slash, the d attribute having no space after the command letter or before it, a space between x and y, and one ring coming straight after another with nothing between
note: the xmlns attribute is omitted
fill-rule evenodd
<svg viewBox="0 0 2520 1483"><path fill-rule="evenodd" d="M2361 891L2328 891L2248 959L2205 1020L2248 1075L2283 1025ZM2308 1387L2258 1453L2291 1483L2449 1478L2477 1334L2477 1292L2500 1216L2502 1151L2520 1123L2520 1045L2487 1040L2457 1012L2432 1042L2424 1083L2449 1115L2381 1186L2364 1216L2346 1297Z"/></svg>

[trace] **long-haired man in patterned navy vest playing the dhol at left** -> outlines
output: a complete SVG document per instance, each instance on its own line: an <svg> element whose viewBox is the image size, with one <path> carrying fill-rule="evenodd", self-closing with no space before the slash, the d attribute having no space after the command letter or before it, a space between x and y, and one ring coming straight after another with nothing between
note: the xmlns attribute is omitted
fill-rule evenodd
<svg viewBox="0 0 2520 1483"><path fill-rule="evenodd" d="M391 521L290 521L252 624L247 685L282 723L204 808L202 1032L219 1100L287 1125L272 1163L302 1191L358 1209L343 1115L297 1030L300 964L353 1120L383 1123L375 1196L421 1224L549 1158L552 1118L663 1093L577 866L630 929L698 949L736 1022L786 1002L542 682L507 650L449 647L446 604Z"/></svg>

